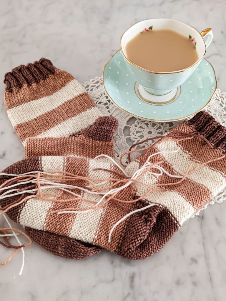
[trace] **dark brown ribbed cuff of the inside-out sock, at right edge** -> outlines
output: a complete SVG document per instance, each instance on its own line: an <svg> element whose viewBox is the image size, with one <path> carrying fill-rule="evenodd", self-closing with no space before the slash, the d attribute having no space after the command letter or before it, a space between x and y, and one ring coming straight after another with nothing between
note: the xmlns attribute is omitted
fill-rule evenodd
<svg viewBox="0 0 226 301"><path fill-rule="evenodd" d="M197 113L187 121L194 130L203 135L214 147L226 150L226 129L205 111Z"/></svg>

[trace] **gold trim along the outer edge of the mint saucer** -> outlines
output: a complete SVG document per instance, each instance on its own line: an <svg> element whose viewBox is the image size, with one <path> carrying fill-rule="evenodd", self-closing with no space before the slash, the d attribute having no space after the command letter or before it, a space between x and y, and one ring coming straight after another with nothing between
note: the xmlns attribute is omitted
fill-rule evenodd
<svg viewBox="0 0 226 301"><path fill-rule="evenodd" d="M137 117L137 118L140 118L140 119L143 119L143 120L149 120L149 121L155 121L155 122L168 122L168 121L183 120L183 119L186 119L186 118L188 118L188 117L190 117L190 116L193 116L193 115L195 115L196 113L202 111L202 110L209 104L209 102L211 101L211 99L212 99L212 97L213 97L213 95L214 95L214 93L215 93L215 91L216 91L216 89L217 89L217 79L216 79L216 73L215 73L215 70L214 70L212 64L211 64L209 61L207 61L207 60L205 59L205 60L211 65L211 67L213 68L213 73L214 73L215 82L216 82L216 84L215 84L215 89L214 89L214 91L213 91L213 94L211 95L209 101L205 104L205 106L203 106L201 109L199 109L198 111L196 111L196 112L194 112L194 113L192 113L192 114L189 114L189 115L187 115L187 116L184 116L184 117L182 117L182 118L177 118L177 119L165 119L165 120L150 119L150 118L145 118L145 117L142 117L142 116L138 116L138 115L132 114L132 113L128 112L127 110L122 109L121 107L118 106L118 104L115 103L115 101L114 101L114 100L111 98L111 96L108 94L108 92L107 92L107 90L106 90L106 88L105 88L105 85L104 85L104 71L105 71L105 67L107 66L107 64L109 63L109 61L111 61L111 59L115 56L115 54L116 54L118 51L120 51L120 49L117 50L117 51L111 56L111 58L107 61L107 63L104 65L103 73L102 73L102 76L103 76L102 82L103 82L104 91L105 91L105 93L108 95L108 98L113 102L113 104L115 104L116 107L118 107L120 110L126 112L127 114L129 114L129 115L131 115L131 116L134 116L134 117Z"/></svg>

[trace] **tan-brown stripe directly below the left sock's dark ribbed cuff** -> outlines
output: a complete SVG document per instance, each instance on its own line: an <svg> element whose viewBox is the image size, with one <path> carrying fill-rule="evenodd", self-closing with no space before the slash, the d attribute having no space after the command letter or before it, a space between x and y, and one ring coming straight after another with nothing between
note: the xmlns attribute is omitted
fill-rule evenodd
<svg viewBox="0 0 226 301"><path fill-rule="evenodd" d="M65 71L56 69L55 74L51 74L42 83L24 85L22 88L14 88L13 92L5 90L5 107L9 110L21 104L47 97L62 89L71 82L74 77Z"/></svg>

